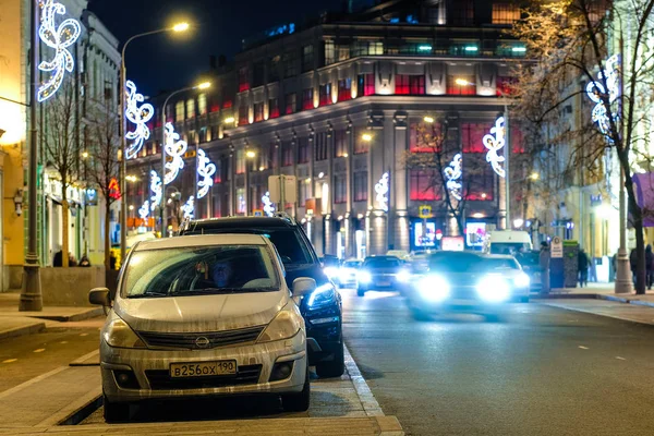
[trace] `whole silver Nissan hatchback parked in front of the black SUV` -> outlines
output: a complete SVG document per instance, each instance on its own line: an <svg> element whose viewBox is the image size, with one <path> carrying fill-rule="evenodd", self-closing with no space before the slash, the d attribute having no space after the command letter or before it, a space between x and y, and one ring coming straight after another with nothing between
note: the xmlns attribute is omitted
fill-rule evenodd
<svg viewBox="0 0 654 436"><path fill-rule="evenodd" d="M261 235L182 237L130 252L100 334L105 419L126 421L143 400L227 395L281 396L308 408L306 330L272 244Z"/></svg>

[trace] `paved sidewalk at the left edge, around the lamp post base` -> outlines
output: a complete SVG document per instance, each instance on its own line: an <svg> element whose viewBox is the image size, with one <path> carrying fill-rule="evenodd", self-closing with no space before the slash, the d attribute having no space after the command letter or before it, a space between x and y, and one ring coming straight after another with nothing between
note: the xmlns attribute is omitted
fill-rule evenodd
<svg viewBox="0 0 654 436"><path fill-rule="evenodd" d="M77 322L104 314L102 307L44 307L19 312L21 290L0 292L0 340L31 335L57 323Z"/></svg>

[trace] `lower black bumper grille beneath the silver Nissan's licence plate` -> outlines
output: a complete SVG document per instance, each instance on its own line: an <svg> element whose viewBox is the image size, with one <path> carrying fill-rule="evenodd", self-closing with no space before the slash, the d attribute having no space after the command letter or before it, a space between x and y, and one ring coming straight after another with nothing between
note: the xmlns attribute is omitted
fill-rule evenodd
<svg viewBox="0 0 654 436"><path fill-rule="evenodd" d="M256 385L262 365L239 366L235 375L217 377L171 378L168 370L146 370L145 376L153 390L206 389L227 386Z"/></svg>

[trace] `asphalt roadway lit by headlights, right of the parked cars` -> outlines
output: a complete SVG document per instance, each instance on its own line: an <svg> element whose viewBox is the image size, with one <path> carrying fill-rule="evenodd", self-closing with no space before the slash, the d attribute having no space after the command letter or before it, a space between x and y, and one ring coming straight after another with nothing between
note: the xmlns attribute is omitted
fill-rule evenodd
<svg viewBox="0 0 654 436"><path fill-rule="evenodd" d="M654 434L654 327L533 302L416 322L398 294L342 293L348 347L408 434Z"/></svg>

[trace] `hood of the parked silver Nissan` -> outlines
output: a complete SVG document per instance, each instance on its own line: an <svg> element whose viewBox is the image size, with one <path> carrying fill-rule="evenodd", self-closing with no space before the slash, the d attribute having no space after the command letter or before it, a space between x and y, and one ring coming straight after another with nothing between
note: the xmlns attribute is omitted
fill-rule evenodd
<svg viewBox="0 0 654 436"><path fill-rule="evenodd" d="M270 323L289 302L289 293L119 299L113 310L136 331L221 331Z"/></svg>

